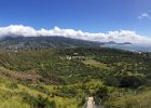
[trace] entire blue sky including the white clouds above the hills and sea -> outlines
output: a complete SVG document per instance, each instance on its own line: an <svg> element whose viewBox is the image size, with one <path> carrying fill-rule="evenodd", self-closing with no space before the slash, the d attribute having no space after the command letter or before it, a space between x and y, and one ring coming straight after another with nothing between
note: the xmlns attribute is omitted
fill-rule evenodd
<svg viewBox="0 0 151 108"><path fill-rule="evenodd" d="M133 33L127 41L134 37L151 40L150 4L151 0L0 0L0 35L26 32L27 36L43 28L50 36L70 33L87 40L101 41L107 37L119 41L123 40L118 40L123 31L124 37Z"/></svg>

